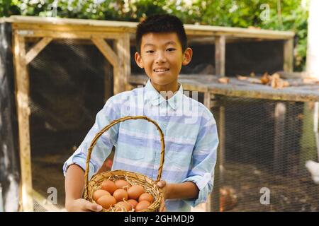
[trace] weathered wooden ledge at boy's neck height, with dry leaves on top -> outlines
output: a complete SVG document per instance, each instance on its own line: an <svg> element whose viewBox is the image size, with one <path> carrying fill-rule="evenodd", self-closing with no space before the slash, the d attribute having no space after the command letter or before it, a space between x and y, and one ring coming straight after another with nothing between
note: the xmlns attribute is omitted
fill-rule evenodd
<svg viewBox="0 0 319 226"><path fill-rule="evenodd" d="M130 83L145 85L147 76L130 76ZM179 82L185 90L198 91L201 93L211 92L214 95L225 95L231 97L246 97L254 99L286 100L294 102L318 101L319 93L315 85L302 85L274 89L269 85L259 85L238 81L230 78L228 84L218 83L218 76L212 75L179 75ZM289 81L293 84L293 81Z"/></svg>

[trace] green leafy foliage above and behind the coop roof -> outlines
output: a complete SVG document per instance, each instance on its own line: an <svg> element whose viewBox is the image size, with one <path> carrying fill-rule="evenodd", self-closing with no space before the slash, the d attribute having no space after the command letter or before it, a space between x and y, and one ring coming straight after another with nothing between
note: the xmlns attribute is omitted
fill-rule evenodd
<svg viewBox="0 0 319 226"><path fill-rule="evenodd" d="M294 69L304 70L306 0L0 0L0 17L26 15L139 21L155 13L172 13L184 23L293 30L296 32Z"/></svg>

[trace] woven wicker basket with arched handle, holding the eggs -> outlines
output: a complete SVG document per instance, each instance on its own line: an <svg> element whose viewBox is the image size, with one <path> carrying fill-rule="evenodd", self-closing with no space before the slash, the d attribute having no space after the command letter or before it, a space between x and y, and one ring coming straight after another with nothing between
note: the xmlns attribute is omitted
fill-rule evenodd
<svg viewBox="0 0 319 226"><path fill-rule="evenodd" d="M130 119L145 119L147 121L150 121L152 124L155 124L157 127L157 130L159 131L159 135L161 138L161 159L159 162L159 169L158 169L158 174L157 174L157 179L154 181L153 179L150 179L149 177L146 177L143 174L135 173L135 172L128 172L124 170L113 170L113 171L107 171L107 172L102 172L101 174L95 174L90 182L89 182L89 161L91 160L91 152L94 148L94 145L96 145L96 142L102 136L102 134L108 129L110 129L112 126L115 124L118 124L122 121L130 120ZM85 169L85 174L84 174L84 179L85 179L85 187L84 187L84 198L91 203L95 203L93 200L92 196L94 191L97 189L101 189L101 184L103 180L105 179L111 179L115 181L116 179L125 179L127 182L129 182L132 185L141 185L144 187L145 191L152 194L154 197L155 201L149 206L147 209L142 210L142 212L156 212L159 210L160 203L162 202L164 195L162 192L162 189L159 189L157 187L157 182L161 179L162 176L162 168L164 165L164 149L165 149L165 144L164 144L164 134L162 130L159 128L159 125L157 124L156 121L153 121L152 119L145 117L145 116L135 116L135 117L123 117L120 119L116 119L112 121L108 126L105 126L99 133L96 133L96 136L91 142L91 145L89 147L88 153L87 153L87 158L86 158L86 169ZM109 208L108 210L104 209L102 210L103 212L113 212L115 211L114 207Z"/></svg>

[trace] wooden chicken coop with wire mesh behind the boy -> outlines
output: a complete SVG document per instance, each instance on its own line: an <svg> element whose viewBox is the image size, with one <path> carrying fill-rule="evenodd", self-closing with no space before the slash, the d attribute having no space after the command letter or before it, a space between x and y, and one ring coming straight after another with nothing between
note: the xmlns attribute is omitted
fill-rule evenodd
<svg viewBox="0 0 319 226"><path fill-rule="evenodd" d="M96 113L112 95L147 81L133 59L136 25L28 16L1 20L4 210L63 208L62 165ZM292 72L293 32L208 25L185 29L194 56L179 81L211 109L220 138L215 189L203 210L318 210L318 186L305 162L318 157L314 113L319 87L301 83L303 78ZM250 83L265 72L280 73L290 86ZM239 75L250 76L239 80ZM264 188L270 191L269 203L262 202ZM48 197L54 191L52 205Z"/></svg>

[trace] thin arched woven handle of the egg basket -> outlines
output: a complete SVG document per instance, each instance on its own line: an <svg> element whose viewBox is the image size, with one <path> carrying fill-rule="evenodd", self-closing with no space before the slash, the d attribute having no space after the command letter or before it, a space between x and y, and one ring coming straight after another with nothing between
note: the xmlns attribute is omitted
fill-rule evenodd
<svg viewBox="0 0 319 226"><path fill-rule="evenodd" d="M96 136L94 137L94 139L91 141L91 145L88 149L88 153L87 153L87 157L86 157L86 169L85 169L85 174L84 174L84 181L85 181L85 187L84 187L84 197L86 197L89 194L89 162L91 160L91 153L92 150L94 148L94 145L96 145L96 142L99 140L99 138L102 136L102 134L106 131L108 131L108 129L110 129L112 126L122 122L122 121L126 121L126 120L130 120L130 119L145 119L147 121L152 122L152 124L155 124L155 126L157 127L157 130L159 131L159 135L161 137L161 159L159 162L159 168L158 168L158 174L157 174L157 179L156 182L159 182L159 180L162 177L162 169L163 169L163 165L164 165L164 149L165 149L165 143L164 143L164 134L162 132L162 129L160 129L159 125L157 124L156 121L145 117L145 116L128 116L128 117L122 117L120 119L116 119L111 121L110 124L108 124L107 126L105 126L103 129L101 129L101 131L99 131L99 133L96 133Z"/></svg>

